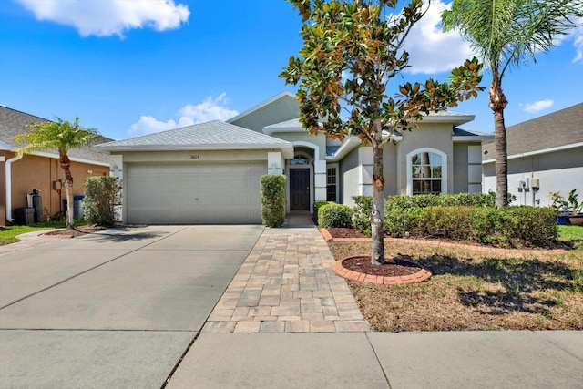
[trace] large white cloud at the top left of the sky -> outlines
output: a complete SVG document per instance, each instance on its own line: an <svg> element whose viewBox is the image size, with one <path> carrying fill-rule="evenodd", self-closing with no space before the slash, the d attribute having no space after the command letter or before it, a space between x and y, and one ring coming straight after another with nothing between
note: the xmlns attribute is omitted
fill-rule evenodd
<svg viewBox="0 0 583 389"><path fill-rule="evenodd" d="M134 28L178 28L189 19L187 5L174 0L16 0L39 20L74 26L81 36L123 37Z"/></svg>

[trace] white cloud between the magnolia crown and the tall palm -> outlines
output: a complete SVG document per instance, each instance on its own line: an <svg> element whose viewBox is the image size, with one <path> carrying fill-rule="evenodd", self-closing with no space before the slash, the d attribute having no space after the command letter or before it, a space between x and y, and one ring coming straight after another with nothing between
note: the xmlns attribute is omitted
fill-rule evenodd
<svg viewBox="0 0 583 389"><path fill-rule="evenodd" d="M475 56L470 44L456 31L444 33L441 13L450 5L440 0L431 3L423 18L411 29L404 44L409 53L409 73L435 74L450 71Z"/></svg>

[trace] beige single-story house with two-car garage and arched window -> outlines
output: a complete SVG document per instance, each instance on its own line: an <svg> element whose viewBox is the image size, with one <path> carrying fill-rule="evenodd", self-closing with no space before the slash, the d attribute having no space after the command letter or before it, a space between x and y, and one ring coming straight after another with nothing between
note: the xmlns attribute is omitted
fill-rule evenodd
<svg viewBox="0 0 583 389"><path fill-rule="evenodd" d="M373 153L356 138L312 135L284 92L230 118L97 145L124 182L125 223L259 223L262 174L287 176L287 211L314 201L353 204L371 195ZM472 115L441 112L395 134L384 150L385 195L481 192L482 142L457 126Z"/></svg>

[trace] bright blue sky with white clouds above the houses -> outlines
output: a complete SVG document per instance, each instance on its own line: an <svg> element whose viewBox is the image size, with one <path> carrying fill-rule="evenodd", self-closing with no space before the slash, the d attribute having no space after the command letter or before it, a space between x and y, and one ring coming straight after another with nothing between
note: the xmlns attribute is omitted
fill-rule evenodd
<svg viewBox="0 0 583 389"><path fill-rule="evenodd" d="M404 81L445 80L471 56L441 33L445 4L432 2L408 37ZM114 139L225 120L295 92L278 75L301 26L283 0L1 0L0 105L78 116ZM583 101L582 29L537 61L506 74L506 126ZM476 115L464 128L493 131L486 92L452 110Z"/></svg>

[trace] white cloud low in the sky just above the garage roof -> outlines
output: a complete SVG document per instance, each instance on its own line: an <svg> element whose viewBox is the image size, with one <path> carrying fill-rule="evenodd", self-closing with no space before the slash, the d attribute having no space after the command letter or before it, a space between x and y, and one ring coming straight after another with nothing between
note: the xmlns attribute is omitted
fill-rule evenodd
<svg viewBox="0 0 583 389"><path fill-rule="evenodd" d="M204 123L211 120L227 120L239 114L239 112L226 107L229 100L226 93L221 93L219 97L207 97L197 104L187 104L177 112L178 120L169 119L160 121L150 115L141 116L138 123L134 123L128 129L130 137L151 134L154 132L166 131L167 129L191 126L197 123Z"/></svg>

